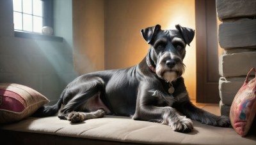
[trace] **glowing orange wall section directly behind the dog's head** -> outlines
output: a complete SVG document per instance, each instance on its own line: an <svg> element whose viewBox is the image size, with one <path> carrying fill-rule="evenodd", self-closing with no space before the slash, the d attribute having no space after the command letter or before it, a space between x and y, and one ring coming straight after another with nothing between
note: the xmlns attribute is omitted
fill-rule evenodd
<svg viewBox="0 0 256 145"><path fill-rule="evenodd" d="M175 24L195 29L194 0L108 0L105 1L105 69L138 64L148 45L140 29L160 24L175 29ZM183 75L191 99L196 97L195 39L186 48Z"/></svg>

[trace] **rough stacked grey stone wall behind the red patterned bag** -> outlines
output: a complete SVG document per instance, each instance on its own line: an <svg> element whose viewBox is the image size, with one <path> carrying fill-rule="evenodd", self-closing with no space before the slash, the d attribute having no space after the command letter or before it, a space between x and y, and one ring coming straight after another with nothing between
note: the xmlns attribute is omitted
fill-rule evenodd
<svg viewBox="0 0 256 145"><path fill-rule="evenodd" d="M219 43L224 49L219 61L221 114L230 106L246 74L256 67L256 0L216 0Z"/></svg>

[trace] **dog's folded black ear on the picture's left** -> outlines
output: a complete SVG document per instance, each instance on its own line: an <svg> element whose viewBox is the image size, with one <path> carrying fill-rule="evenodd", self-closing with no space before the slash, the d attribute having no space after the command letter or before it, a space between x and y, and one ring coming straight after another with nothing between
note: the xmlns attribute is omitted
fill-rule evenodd
<svg viewBox="0 0 256 145"><path fill-rule="evenodd" d="M161 25L155 25L153 27L148 27L145 29L141 29L141 34L143 36L143 38L145 39L145 41L147 41L147 43L149 44L152 39L154 38L154 36L157 35L157 32L159 32L159 30L161 30Z"/></svg>

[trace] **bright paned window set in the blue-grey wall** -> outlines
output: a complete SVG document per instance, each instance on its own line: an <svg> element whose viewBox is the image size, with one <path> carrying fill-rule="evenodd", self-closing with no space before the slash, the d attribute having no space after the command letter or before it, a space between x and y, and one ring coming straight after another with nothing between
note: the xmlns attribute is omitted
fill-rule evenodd
<svg viewBox="0 0 256 145"><path fill-rule="evenodd" d="M52 0L13 0L15 31L41 33L43 26L52 27Z"/></svg>

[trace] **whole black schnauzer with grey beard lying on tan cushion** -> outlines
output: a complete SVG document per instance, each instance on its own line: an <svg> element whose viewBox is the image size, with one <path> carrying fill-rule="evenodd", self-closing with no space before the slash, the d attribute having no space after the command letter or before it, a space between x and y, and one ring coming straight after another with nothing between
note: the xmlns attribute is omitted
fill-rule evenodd
<svg viewBox="0 0 256 145"><path fill-rule="evenodd" d="M41 107L35 116L52 116L62 106L58 117L73 123L115 114L169 125L177 132L191 132L193 122L189 118L207 125L229 126L227 116L208 113L190 102L181 77L182 60L195 32L175 27L161 30L156 25L141 30L150 48L140 64L79 76L63 90L57 104Z"/></svg>

